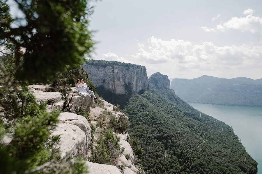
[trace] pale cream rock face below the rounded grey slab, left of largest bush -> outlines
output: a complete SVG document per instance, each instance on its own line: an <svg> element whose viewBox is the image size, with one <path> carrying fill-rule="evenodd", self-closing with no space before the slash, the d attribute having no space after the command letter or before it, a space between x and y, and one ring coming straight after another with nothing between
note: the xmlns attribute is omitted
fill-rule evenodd
<svg viewBox="0 0 262 174"><path fill-rule="evenodd" d="M78 126L58 123L52 135L60 135L59 149L63 160L69 157L75 159L78 156L87 158L86 135Z"/></svg>

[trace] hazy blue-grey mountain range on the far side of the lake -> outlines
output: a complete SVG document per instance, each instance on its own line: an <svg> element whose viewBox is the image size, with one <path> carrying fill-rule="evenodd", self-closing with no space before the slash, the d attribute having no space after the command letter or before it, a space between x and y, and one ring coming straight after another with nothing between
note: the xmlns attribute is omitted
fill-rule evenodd
<svg viewBox="0 0 262 174"><path fill-rule="evenodd" d="M196 79L173 79L173 88L187 102L262 106L262 79L233 79L203 75Z"/></svg>

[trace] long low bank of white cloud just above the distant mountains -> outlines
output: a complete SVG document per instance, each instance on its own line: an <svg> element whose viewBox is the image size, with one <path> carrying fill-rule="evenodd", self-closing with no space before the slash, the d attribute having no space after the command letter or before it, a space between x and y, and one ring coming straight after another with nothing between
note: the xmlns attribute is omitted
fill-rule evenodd
<svg viewBox="0 0 262 174"><path fill-rule="evenodd" d="M133 58L147 64L172 65L181 70L259 68L262 66L262 46L216 46L213 42L193 45L190 41L164 41L152 36L148 46L140 48Z"/></svg>

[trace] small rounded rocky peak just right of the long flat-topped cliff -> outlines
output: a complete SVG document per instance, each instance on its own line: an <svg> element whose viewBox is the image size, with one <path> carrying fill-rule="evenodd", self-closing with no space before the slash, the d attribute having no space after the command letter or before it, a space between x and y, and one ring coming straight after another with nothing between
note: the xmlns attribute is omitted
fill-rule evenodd
<svg viewBox="0 0 262 174"><path fill-rule="evenodd" d="M152 79L157 88L167 88L169 89L170 81L167 75L162 75L161 73L154 73L149 79Z"/></svg>

